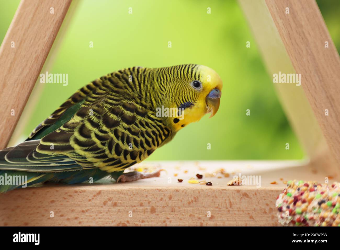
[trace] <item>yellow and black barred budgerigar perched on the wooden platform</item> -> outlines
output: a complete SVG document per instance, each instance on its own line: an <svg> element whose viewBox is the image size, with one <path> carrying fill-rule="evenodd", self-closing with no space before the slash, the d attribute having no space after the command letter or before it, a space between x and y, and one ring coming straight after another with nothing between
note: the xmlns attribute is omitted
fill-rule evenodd
<svg viewBox="0 0 340 250"><path fill-rule="evenodd" d="M73 184L111 175L120 181L159 176L124 169L141 162L204 114L215 115L222 81L196 64L132 67L75 92L29 138L0 151L0 177L27 176L27 185ZM178 110L157 114L160 108ZM180 112L184 110L183 112ZM21 185L0 185L0 193Z"/></svg>

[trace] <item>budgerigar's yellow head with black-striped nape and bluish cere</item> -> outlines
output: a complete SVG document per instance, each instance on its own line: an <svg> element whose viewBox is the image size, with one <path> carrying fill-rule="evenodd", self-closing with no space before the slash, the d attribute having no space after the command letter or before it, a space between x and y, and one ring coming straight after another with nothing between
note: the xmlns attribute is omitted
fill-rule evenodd
<svg viewBox="0 0 340 250"><path fill-rule="evenodd" d="M158 68L156 78L160 90L164 89L156 115L167 117L174 131L199 121L206 113L211 113L210 117L216 114L222 80L213 69L195 64Z"/></svg>

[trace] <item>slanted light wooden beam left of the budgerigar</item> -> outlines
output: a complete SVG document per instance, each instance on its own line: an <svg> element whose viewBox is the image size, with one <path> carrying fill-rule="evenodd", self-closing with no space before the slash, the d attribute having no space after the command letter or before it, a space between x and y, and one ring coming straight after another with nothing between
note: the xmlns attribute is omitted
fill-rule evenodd
<svg viewBox="0 0 340 250"><path fill-rule="evenodd" d="M71 0L20 2L0 47L0 149L11 138L70 3Z"/></svg>

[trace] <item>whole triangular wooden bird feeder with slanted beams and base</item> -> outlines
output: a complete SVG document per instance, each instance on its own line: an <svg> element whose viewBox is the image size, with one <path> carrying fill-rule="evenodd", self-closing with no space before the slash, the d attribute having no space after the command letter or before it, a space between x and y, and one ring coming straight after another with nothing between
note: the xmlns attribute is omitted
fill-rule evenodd
<svg viewBox="0 0 340 250"><path fill-rule="evenodd" d="M0 48L0 148L6 147L11 138L70 3L71 0L22 0L18 7ZM339 181L340 60L317 3L239 3L269 74L281 71L302 75L301 86L274 85L307 160L162 162L159 164L167 169L166 176L132 183L44 185L14 190L0 194L0 225L277 226L275 200L286 186L284 180ZM49 14L50 6L55 6L54 15ZM58 34L60 37L62 34ZM15 49L11 41L15 41ZM12 109L15 116L11 116ZM200 167L206 169L202 171ZM198 172L218 168L223 168L230 178L204 177L213 182L212 186L187 181ZM261 176L261 186L227 186L232 172ZM176 173L186 176L186 180L177 182ZM271 184L273 181L278 184Z"/></svg>

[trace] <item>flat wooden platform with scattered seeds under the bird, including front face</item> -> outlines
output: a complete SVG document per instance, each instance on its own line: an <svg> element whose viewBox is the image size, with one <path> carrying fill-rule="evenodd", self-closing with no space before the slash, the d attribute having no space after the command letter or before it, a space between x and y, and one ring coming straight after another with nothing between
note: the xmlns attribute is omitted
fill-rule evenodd
<svg viewBox="0 0 340 250"><path fill-rule="evenodd" d="M286 186L280 179L323 182L327 176L303 165L299 161L144 163L139 166L161 167L168 173L130 183L104 180L0 194L0 226L279 226L275 200ZM221 168L230 176L206 178ZM188 183L198 173L212 186ZM227 186L239 173L261 176L261 187ZM278 184L270 184L273 181Z"/></svg>

